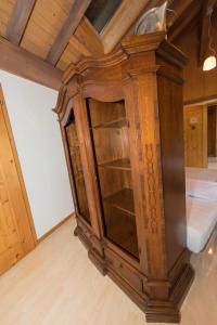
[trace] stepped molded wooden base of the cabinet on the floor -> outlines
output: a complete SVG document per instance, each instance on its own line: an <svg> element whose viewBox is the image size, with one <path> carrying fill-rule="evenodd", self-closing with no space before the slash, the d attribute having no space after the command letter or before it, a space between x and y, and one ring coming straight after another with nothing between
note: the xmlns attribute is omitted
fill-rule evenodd
<svg viewBox="0 0 217 325"><path fill-rule="evenodd" d="M175 273L178 276L173 276L174 281L170 283L168 299L157 300L154 297L150 298L149 280L141 273L138 273L129 261L123 260L120 256L112 250L110 251L108 248L106 248L106 258L102 257L91 244L91 235L87 236L87 231L84 232L79 226L76 227L75 235L87 247L88 257L100 273L102 275L107 274L127 294L145 313L148 323L180 323L179 308L194 278L194 271L188 262L188 251L177 262L178 266L176 266L177 271Z"/></svg>

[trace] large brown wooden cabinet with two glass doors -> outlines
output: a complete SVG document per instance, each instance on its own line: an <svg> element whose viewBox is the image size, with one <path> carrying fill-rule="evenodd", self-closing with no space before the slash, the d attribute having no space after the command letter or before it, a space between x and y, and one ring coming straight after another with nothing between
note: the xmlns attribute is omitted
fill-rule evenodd
<svg viewBox="0 0 217 325"><path fill-rule="evenodd" d="M186 247L184 55L164 34L126 39L64 74L59 114L91 261L145 312L179 322L193 278Z"/></svg>

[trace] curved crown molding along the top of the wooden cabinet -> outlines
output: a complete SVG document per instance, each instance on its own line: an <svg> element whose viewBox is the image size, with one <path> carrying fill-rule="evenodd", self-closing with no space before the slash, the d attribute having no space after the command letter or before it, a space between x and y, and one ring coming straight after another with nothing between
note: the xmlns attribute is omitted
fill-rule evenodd
<svg viewBox="0 0 217 325"><path fill-rule="evenodd" d="M161 31L124 39L112 53L97 57L89 56L81 60L77 65L69 65L63 74L63 86L59 92L56 106L53 109L53 112L59 115L59 119L63 119L65 112L69 109L68 105L73 105L73 98L82 87L88 87L97 82L102 86L115 81L114 79L118 82L118 79L122 81L132 77L132 75L137 77L144 72L157 72L163 68L163 66L156 65L154 55L151 66L150 62L146 64L143 60L141 65L131 67L130 60L141 53L154 53L155 56L157 55L166 60L180 69L188 63L188 57L166 40L165 32ZM128 68L126 73L123 74L123 69L125 69L126 65L128 65ZM118 67L119 74L113 74L110 80L104 80L103 78L99 80L100 78L94 77L94 74L98 74L100 70L112 70L115 67ZM91 75L91 78L86 78L87 75ZM176 79L176 76L174 76L174 78Z"/></svg>

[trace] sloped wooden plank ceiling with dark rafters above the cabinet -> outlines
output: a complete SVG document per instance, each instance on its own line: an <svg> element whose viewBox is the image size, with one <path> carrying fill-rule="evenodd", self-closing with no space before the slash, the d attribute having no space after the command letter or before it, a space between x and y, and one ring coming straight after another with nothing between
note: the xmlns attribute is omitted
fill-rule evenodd
<svg viewBox="0 0 217 325"><path fill-rule="evenodd" d="M1 0L0 36L41 61L65 70L82 56L111 52L132 34L140 15L162 0ZM207 41L207 9L216 0L169 0L171 41L196 17ZM106 10L105 10L106 9ZM204 56L204 48L201 50ZM203 57L202 57L203 58Z"/></svg>

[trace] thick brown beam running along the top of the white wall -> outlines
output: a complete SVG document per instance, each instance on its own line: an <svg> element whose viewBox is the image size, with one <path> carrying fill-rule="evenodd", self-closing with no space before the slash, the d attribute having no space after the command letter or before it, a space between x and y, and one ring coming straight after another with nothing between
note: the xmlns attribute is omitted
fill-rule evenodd
<svg viewBox="0 0 217 325"><path fill-rule="evenodd" d="M0 69L55 90L61 88L61 70L2 37L0 53Z"/></svg>

